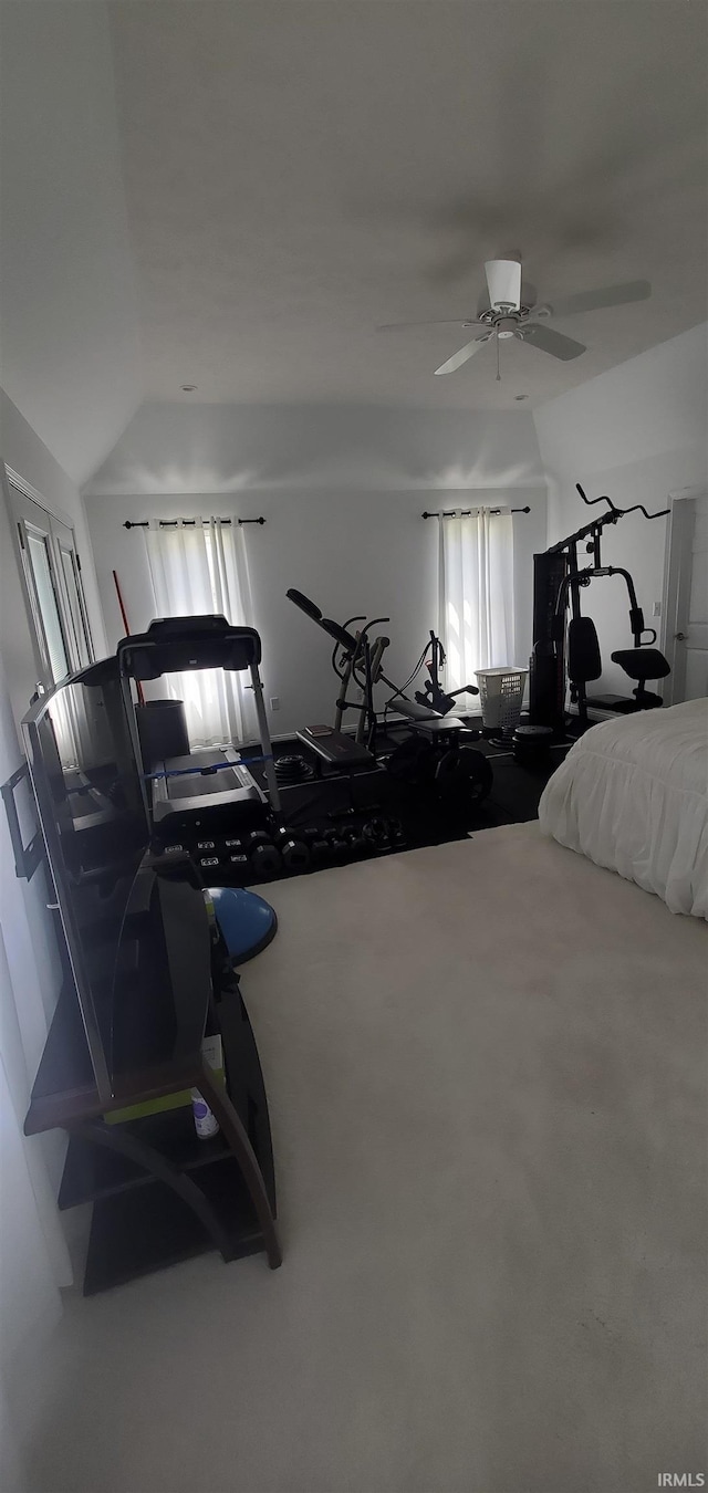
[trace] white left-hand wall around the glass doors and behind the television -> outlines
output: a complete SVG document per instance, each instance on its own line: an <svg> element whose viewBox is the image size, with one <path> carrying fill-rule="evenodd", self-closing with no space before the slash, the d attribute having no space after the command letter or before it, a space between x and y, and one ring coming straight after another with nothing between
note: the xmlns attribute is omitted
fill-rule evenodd
<svg viewBox="0 0 708 1493"><path fill-rule="evenodd" d="M97 651L105 651L81 496L1 390L0 458L75 526L94 640ZM18 720L27 711L34 682L34 655L10 517L0 496L0 782L21 763ZM61 981L51 914L46 911L46 903L52 900L43 866L30 882L16 879L9 830L0 811L0 1383L6 1381L7 1397L12 1391L12 1412L19 1423L30 1414L34 1393L30 1377L19 1372L21 1353L28 1347L40 1351L45 1333L61 1312L58 1287L72 1280L60 1215L54 1206L66 1141L58 1130L30 1139L22 1136L30 1090Z"/></svg>

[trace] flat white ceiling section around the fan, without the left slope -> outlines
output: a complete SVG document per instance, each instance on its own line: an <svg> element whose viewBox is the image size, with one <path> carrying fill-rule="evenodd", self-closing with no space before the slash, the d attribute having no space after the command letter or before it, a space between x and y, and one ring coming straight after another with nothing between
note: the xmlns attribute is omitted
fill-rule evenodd
<svg viewBox="0 0 708 1493"><path fill-rule="evenodd" d="M529 408L707 315L705 4L115 0L145 397ZM541 299L647 278L559 322L562 364L397 320L469 315L518 251Z"/></svg>

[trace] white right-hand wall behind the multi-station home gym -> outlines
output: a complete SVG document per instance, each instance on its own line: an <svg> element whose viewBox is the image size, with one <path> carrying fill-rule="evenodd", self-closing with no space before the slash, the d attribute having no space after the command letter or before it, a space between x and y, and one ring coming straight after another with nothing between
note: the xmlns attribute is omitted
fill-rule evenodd
<svg viewBox="0 0 708 1493"><path fill-rule="evenodd" d="M669 493L705 487L707 463L707 327L695 327L609 373L571 390L533 414L548 481L550 542L580 529L591 517L575 491L608 493L620 508L644 503L666 508ZM633 575L648 626L662 600L666 520L647 523L632 514L605 529L603 564ZM630 648L627 600L617 578L594 581L583 593L583 609L594 618L603 658L597 685L626 694L627 676L611 663L615 648Z"/></svg>

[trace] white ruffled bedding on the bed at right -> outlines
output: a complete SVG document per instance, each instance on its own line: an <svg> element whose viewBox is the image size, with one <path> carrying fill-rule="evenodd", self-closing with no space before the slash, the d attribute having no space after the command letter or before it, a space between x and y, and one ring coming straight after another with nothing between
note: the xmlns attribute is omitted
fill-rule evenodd
<svg viewBox="0 0 708 1493"><path fill-rule="evenodd" d="M545 835L708 918L708 700L593 726L542 794Z"/></svg>

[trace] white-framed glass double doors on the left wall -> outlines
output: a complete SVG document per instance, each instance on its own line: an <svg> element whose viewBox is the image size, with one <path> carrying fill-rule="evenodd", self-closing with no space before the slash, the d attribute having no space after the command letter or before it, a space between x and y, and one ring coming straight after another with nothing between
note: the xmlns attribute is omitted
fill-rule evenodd
<svg viewBox="0 0 708 1493"><path fill-rule="evenodd" d="M37 679L51 690L94 657L76 540L70 524L49 514L9 473L6 494Z"/></svg>

